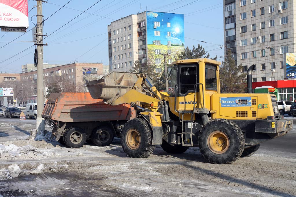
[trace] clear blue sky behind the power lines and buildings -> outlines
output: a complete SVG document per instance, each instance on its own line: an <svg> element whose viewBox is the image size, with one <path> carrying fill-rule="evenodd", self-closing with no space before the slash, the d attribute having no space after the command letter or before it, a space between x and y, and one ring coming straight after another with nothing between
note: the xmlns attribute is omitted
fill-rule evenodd
<svg viewBox="0 0 296 197"><path fill-rule="evenodd" d="M44 19L68 1L48 0L48 3L43 4ZM97 1L72 0L44 22L44 34L49 35L54 32ZM185 6L186 4L189 5ZM29 11L35 5L36 1L30 0L28 3ZM192 45L201 44L209 51L211 57L217 55L219 59L220 56L223 56L223 48L219 47L219 45L223 45L222 1L102 0L86 11L87 13L81 14L68 25L44 39L44 43L48 43L48 46L44 46L44 62L49 64L68 64L70 62L73 63L76 58L78 62L102 62L104 65L108 65L107 25L121 17L137 14L140 12L140 5L142 6L142 11L147 8L148 11L153 12L184 14L185 47L192 48ZM28 30L34 26L31 22L31 17L32 21L36 23L35 14L36 8L33 8L29 12L30 27ZM5 32L0 32L0 48L6 44L1 42L12 41L21 35L21 33L15 32L4 34ZM15 41L32 41L32 31ZM202 43L201 41L207 43ZM8 44L0 49L0 62L25 50L30 45L33 45L33 43L19 42ZM34 62L33 51L34 47L0 63L0 72L21 72L21 65ZM219 60L222 61L223 59L220 58Z"/></svg>

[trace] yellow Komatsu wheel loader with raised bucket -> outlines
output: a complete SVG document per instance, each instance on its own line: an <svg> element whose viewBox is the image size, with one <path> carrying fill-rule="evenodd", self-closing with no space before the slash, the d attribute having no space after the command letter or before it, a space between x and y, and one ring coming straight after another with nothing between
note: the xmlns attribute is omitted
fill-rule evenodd
<svg viewBox="0 0 296 197"><path fill-rule="evenodd" d="M111 72L87 87L94 99L136 109L136 118L121 130L128 156L148 157L156 144L168 153L199 147L208 162L230 164L285 135L292 120L279 114L275 95L252 94L254 66L248 70L248 93L221 94L220 64L206 58L173 62L168 92L159 92L144 73Z"/></svg>

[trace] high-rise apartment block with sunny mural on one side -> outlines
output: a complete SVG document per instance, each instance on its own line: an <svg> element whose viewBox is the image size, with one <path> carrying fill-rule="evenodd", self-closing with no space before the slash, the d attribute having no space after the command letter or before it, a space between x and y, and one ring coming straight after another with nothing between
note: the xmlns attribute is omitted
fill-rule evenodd
<svg viewBox="0 0 296 197"><path fill-rule="evenodd" d="M134 63L149 61L156 72L176 60L184 50L184 14L141 12L111 22L108 25L109 68L111 71L131 71Z"/></svg>

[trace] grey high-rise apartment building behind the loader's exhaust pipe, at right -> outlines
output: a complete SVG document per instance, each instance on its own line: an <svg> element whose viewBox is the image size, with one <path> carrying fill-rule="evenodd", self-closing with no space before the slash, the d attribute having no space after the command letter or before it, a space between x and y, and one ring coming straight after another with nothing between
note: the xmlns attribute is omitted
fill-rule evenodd
<svg viewBox="0 0 296 197"><path fill-rule="evenodd" d="M225 53L230 49L242 64L252 65L253 82L283 80L285 53L295 51L296 2L284 0L224 0Z"/></svg>

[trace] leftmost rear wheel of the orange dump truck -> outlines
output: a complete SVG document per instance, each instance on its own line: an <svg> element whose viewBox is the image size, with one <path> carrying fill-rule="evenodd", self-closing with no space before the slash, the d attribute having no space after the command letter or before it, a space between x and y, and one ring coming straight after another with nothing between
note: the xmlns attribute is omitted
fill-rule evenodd
<svg viewBox="0 0 296 197"><path fill-rule="evenodd" d="M70 148L80 148L86 141L86 133L82 128L70 127L63 134L66 146Z"/></svg>

